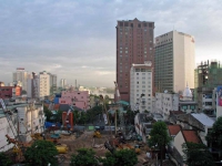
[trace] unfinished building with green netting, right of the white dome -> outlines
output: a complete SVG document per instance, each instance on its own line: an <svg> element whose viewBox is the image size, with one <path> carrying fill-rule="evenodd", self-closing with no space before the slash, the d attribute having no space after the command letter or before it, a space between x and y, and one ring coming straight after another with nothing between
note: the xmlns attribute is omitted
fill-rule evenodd
<svg viewBox="0 0 222 166"><path fill-rule="evenodd" d="M198 101L199 112L215 115L215 87L222 85L222 68L218 61L201 62L195 69L194 97Z"/></svg>

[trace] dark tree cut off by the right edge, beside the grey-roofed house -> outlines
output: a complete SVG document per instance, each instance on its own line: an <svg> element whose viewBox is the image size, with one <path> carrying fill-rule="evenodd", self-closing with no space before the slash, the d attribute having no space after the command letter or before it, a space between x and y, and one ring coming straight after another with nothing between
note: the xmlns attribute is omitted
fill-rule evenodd
<svg viewBox="0 0 222 166"><path fill-rule="evenodd" d="M211 131L209 131L205 139L210 144L211 148L222 152L222 116L219 117ZM219 153L218 160L222 160L222 155Z"/></svg>

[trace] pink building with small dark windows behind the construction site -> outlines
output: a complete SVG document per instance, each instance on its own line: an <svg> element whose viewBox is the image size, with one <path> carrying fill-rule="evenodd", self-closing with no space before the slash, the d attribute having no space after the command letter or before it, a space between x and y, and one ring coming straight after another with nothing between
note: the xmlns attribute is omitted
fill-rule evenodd
<svg viewBox="0 0 222 166"><path fill-rule="evenodd" d="M90 108L90 94L88 91L62 91L59 104L69 104L87 111Z"/></svg>

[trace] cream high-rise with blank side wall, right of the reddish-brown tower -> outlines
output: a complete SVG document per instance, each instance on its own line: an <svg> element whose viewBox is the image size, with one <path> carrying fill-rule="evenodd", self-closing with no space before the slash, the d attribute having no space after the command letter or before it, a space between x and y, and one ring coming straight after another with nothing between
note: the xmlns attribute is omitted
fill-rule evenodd
<svg viewBox="0 0 222 166"><path fill-rule="evenodd" d="M155 38L154 86L158 92L194 89L194 38L171 31Z"/></svg>

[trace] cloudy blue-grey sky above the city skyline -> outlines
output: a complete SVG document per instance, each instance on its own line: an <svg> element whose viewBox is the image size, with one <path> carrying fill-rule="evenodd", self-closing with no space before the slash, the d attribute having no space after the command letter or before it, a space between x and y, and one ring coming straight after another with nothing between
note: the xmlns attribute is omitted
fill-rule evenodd
<svg viewBox="0 0 222 166"><path fill-rule="evenodd" d="M117 20L153 21L154 37L195 39L195 63L222 60L221 0L0 0L0 81L17 68L114 86Z"/></svg>

